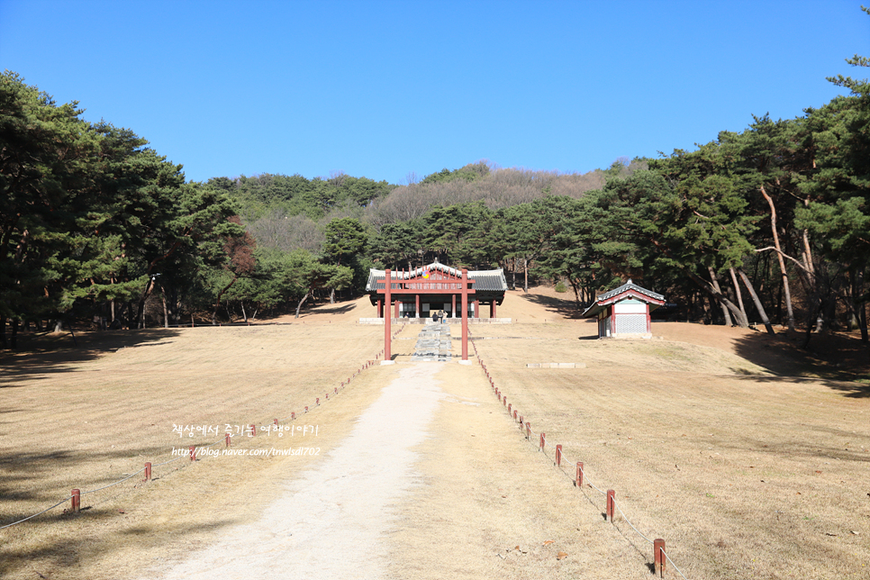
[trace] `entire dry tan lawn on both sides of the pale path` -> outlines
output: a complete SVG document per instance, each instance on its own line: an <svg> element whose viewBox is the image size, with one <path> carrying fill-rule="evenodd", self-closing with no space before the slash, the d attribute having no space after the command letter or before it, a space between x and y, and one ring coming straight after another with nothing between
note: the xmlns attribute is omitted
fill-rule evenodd
<svg viewBox="0 0 870 580"><path fill-rule="evenodd" d="M573 319L564 297L510 293L499 316L518 322L472 327L508 402L547 433L546 453L521 436L481 367L445 365L449 396L417 449L421 485L385 539L391 575L649 577L651 546L621 516L603 520L603 496L576 490L574 467L554 467L560 443L594 485L616 491L631 523L666 539L689 578L870 578L870 387L856 337L815 338L811 357L787 335L675 322L655 325L657 340L592 340L595 324ZM317 425L316 437L260 433L233 445L328 455L394 376L367 369L324 401L381 349L383 327L356 323L373 311L362 299L280 321L292 323L94 333L79 349L46 337L2 355L0 526L73 487L166 461L173 447L220 439L225 424L299 414L317 396L323 404L295 423ZM394 342L400 364L418 329ZM586 367L526 367L536 362ZM173 424L221 434L179 439ZM61 514L65 503L0 530L0 575L147 575L255 520L317 461L156 467L150 483L135 476L83 496L77 516Z"/></svg>

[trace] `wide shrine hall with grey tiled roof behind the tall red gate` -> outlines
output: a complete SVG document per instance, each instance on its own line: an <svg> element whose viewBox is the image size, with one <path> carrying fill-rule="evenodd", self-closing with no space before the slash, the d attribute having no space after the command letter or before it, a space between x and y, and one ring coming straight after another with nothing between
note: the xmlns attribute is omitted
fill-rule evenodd
<svg viewBox="0 0 870 580"><path fill-rule="evenodd" d="M495 318L496 306L504 301L507 281L504 271L470 270L467 274L471 293L468 297L468 318L481 318L482 311L489 306L489 318ZM443 310L447 318L459 319L461 310L462 271L455 267L434 262L429 266L412 270L391 270L394 292L386 308L393 308L393 318L430 318L433 313ZM384 318L385 270L372 268L368 272L366 292L377 307L377 317ZM380 293L378 292L380 289ZM414 292L414 291L417 292ZM458 310L458 306L460 309Z"/></svg>

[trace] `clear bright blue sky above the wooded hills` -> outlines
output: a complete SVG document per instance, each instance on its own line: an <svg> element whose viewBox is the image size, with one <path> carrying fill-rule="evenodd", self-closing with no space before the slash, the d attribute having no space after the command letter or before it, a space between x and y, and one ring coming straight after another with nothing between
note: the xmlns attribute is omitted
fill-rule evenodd
<svg viewBox="0 0 870 580"><path fill-rule="evenodd" d="M191 180L586 172L825 104L860 5L0 0L0 68Z"/></svg>

